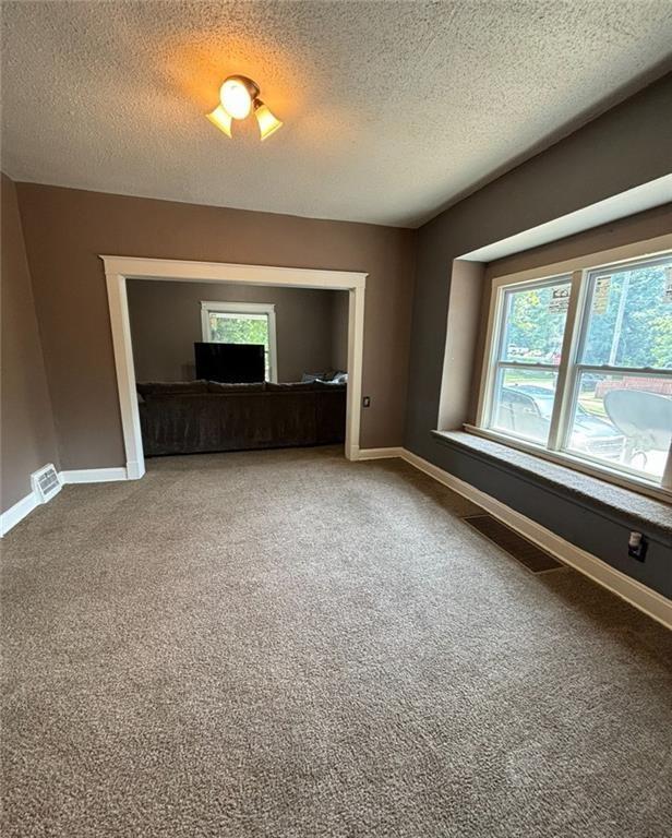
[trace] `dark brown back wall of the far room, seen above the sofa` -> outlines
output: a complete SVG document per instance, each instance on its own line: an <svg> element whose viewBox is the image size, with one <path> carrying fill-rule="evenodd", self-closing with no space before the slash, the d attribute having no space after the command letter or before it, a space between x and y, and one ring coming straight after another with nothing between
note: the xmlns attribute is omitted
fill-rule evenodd
<svg viewBox="0 0 672 838"><path fill-rule="evenodd" d="M226 283L127 283L133 360L137 381L195 378L194 342L202 340L201 301L275 304L278 381L301 381L304 372L336 369L332 347L334 307L347 291L272 288ZM346 369L343 367L341 369Z"/></svg>

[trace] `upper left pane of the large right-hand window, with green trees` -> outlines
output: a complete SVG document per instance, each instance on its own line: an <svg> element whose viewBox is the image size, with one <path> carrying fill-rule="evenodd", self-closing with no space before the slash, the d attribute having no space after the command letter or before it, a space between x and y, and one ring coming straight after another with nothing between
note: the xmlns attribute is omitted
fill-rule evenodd
<svg viewBox="0 0 672 838"><path fill-rule="evenodd" d="M569 280L504 294L500 360L560 363Z"/></svg>

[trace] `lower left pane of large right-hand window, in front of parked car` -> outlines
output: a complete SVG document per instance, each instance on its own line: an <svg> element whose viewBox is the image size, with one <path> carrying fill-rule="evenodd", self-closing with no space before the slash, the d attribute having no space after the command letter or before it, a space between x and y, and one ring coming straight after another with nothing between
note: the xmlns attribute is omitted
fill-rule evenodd
<svg viewBox="0 0 672 838"><path fill-rule="evenodd" d="M548 370L500 370L492 427L545 443L551 428L556 374Z"/></svg>

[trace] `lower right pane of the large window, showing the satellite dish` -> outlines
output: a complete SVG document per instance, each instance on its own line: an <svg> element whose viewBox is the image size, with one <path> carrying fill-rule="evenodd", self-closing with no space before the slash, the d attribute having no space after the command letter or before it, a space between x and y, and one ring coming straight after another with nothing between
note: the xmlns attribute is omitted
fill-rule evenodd
<svg viewBox="0 0 672 838"><path fill-rule="evenodd" d="M660 479L672 439L672 375L583 372L567 448Z"/></svg>

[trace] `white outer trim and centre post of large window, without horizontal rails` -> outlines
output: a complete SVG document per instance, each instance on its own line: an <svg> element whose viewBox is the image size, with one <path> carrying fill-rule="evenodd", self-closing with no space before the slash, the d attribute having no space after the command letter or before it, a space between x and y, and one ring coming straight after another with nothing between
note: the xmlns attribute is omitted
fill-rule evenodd
<svg viewBox="0 0 672 838"><path fill-rule="evenodd" d="M572 409L574 402L576 358L579 340L581 338L580 327L576 328L575 326L577 321L580 323L589 285L587 282L583 282L584 275L602 267L616 266L620 263L631 262L633 260L644 261L653 259L664 254L671 249L672 234L493 278L488 312L488 330L485 333L483 364L479 385L476 426L466 424L465 430L492 439L495 442L509 445L511 447L525 451L529 454L535 454L542 459L559 463L569 468L574 468L577 471L599 477L617 486L635 489L638 492L670 503L672 501L672 446L668 454L667 466L661 483L658 484L646 478L629 475L620 469L611 469L608 465L591 460L588 457L584 458L583 456L575 456L566 451L561 451L560 448L563 440L560 434L561 429L567 427L565 419L567 411ZM560 398L555 399L548 445L543 446L537 445L528 440L517 439L513 434L500 433L488 427L492 410L494 376L496 374L499 360L496 358L500 346L499 312L506 287L521 285L524 283L529 283L530 286L533 287L554 278L564 278L567 275L571 275L572 277L572 296L569 298L569 308L565 323L562 361L557 367L556 393L560 395ZM613 370L605 369L605 371L612 372ZM637 370L628 369L627 371L636 372Z"/></svg>

